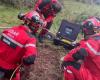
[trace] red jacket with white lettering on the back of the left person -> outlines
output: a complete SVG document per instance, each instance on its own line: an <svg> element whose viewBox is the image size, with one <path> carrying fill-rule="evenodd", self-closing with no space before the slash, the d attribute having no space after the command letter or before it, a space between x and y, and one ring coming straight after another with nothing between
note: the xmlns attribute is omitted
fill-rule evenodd
<svg viewBox="0 0 100 80"><path fill-rule="evenodd" d="M14 69L31 55L36 56L36 39L24 25L4 30L0 40L0 67Z"/></svg>

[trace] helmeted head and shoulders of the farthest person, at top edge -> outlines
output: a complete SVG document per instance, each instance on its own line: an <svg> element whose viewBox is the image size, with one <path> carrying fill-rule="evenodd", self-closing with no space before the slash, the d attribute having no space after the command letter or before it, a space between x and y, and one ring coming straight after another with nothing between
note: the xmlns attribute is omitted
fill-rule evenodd
<svg viewBox="0 0 100 80"><path fill-rule="evenodd" d="M61 10L61 4L58 0L38 0L34 10L41 13L45 19L49 16L53 17Z"/></svg>

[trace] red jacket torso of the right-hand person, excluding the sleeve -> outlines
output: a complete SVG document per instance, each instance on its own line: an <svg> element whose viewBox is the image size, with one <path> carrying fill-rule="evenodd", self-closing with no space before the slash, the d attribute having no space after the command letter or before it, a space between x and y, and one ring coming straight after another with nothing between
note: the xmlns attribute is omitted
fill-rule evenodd
<svg viewBox="0 0 100 80"><path fill-rule="evenodd" d="M91 36L91 39L85 42L85 47L88 52L88 57L86 58L85 66L90 70L90 72L100 79L100 34Z"/></svg>

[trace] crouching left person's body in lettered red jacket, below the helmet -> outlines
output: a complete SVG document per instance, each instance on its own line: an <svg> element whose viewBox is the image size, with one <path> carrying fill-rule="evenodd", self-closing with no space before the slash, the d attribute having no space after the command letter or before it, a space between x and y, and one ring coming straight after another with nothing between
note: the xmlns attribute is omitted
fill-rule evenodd
<svg viewBox="0 0 100 80"><path fill-rule="evenodd" d="M37 48L36 38L31 35L32 14L30 20L22 25L13 26L1 33L0 38L0 80L10 79L15 69L20 65L34 64ZM20 80L17 69L10 80Z"/></svg>

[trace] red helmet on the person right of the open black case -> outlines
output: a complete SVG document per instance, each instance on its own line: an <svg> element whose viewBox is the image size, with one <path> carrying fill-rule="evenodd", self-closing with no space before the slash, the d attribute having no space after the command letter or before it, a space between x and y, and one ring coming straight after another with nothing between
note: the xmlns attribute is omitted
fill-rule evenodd
<svg viewBox="0 0 100 80"><path fill-rule="evenodd" d="M84 37L93 35L100 30L100 21L96 17L88 18L87 20L83 21L82 25Z"/></svg>

